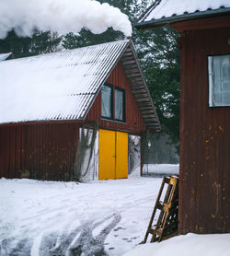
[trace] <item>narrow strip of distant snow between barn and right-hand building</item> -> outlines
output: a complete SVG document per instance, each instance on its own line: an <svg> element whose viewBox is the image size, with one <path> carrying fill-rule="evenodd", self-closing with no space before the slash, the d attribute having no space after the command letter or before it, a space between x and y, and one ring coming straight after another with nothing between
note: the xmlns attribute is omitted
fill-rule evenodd
<svg viewBox="0 0 230 256"><path fill-rule="evenodd" d="M144 175L163 177L166 175L178 175L179 165L172 164L145 164L143 168Z"/></svg>

